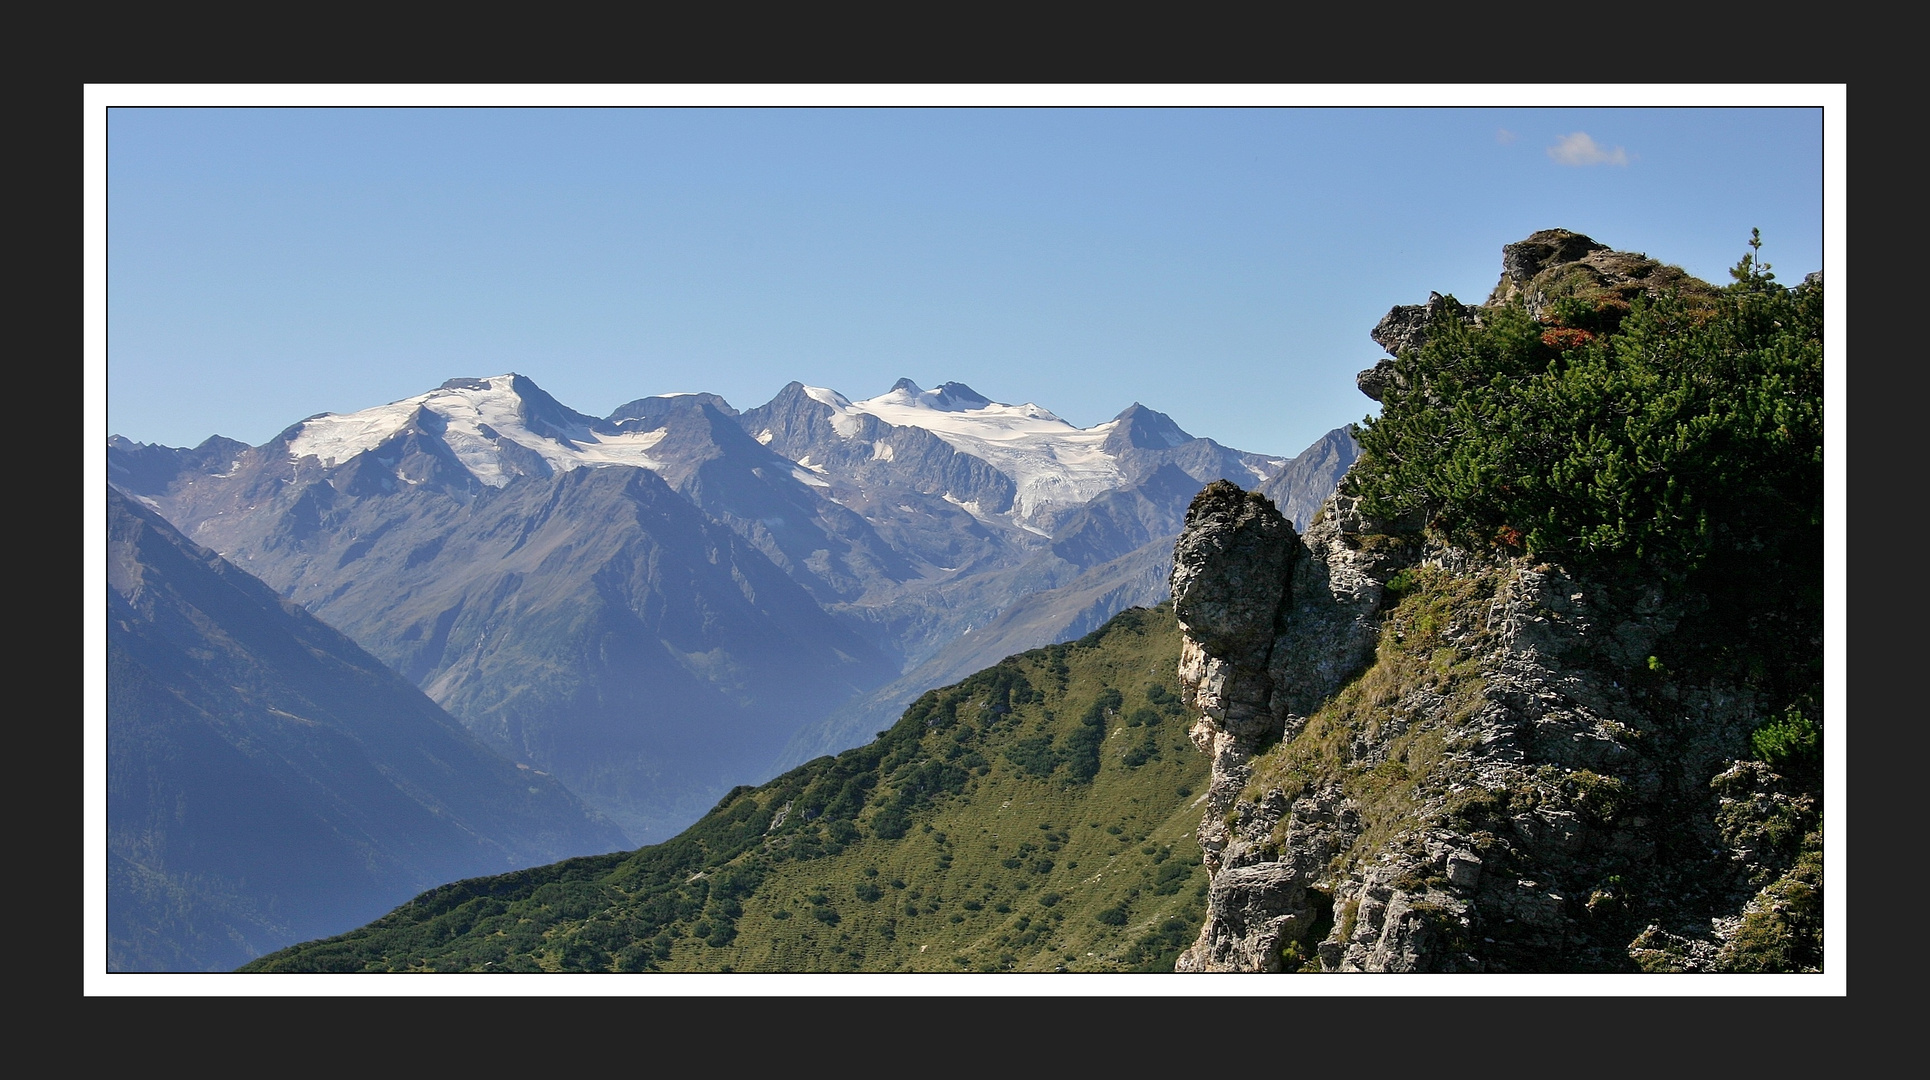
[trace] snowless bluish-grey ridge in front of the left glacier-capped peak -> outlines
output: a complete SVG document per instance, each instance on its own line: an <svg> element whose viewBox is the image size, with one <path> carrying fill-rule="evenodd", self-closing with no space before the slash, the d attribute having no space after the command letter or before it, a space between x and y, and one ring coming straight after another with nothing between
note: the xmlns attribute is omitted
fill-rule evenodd
<svg viewBox="0 0 1930 1080"><path fill-rule="evenodd" d="M388 523L315 611L637 841L768 775L799 725L890 677L650 471L529 478L436 530Z"/></svg>

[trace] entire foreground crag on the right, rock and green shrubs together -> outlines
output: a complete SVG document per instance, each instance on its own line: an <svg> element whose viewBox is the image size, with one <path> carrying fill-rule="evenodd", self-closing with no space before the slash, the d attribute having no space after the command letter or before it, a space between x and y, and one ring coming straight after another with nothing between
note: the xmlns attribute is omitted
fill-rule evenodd
<svg viewBox="0 0 1930 1080"><path fill-rule="evenodd" d="M1534 233L1382 320L1305 534L1200 494L1181 970L1820 970L1822 295Z"/></svg>

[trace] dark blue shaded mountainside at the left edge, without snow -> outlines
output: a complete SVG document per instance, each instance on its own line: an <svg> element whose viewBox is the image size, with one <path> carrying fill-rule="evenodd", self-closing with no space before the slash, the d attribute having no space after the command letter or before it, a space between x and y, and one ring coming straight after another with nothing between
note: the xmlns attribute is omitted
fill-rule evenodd
<svg viewBox="0 0 1930 1080"><path fill-rule="evenodd" d="M623 845L114 488L108 528L112 968L224 970L425 883Z"/></svg>

